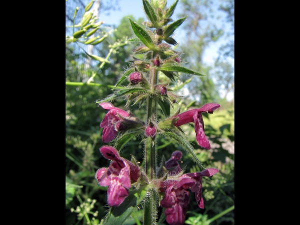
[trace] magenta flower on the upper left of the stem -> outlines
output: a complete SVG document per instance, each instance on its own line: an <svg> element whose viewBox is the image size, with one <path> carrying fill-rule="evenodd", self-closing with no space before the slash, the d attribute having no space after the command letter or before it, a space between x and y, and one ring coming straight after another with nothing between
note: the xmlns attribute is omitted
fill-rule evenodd
<svg viewBox="0 0 300 225"><path fill-rule="evenodd" d="M102 103L99 103L99 105L101 105L102 108L109 110L106 113L106 115L104 116L103 120L101 121L100 127L104 127L103 133L102 133L102 141L110 142L116 136L117 129L115 128L115 123L117 123L118 121L120 123L122 121L122 119L118 116L118 114L123 117L126 117L126 116L129 116L129 113L120 108L114 107L109 102L102 102ZM118 123L117 127L125 127L119 123Z"/></svg>

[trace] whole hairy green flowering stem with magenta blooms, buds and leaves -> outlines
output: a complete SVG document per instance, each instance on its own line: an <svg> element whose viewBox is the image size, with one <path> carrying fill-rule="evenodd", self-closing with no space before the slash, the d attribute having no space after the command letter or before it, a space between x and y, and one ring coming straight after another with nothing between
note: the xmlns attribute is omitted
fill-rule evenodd
<svg viewBox="0 0 300 225"><path fill-rule="evenodd" d="M144 225L153 225L164 220L169 225L182 225L187 212L189 191L195 192L198 206L204 208L201 177L211 177L219 171L217 168L205 169L202 166L179 126L194 122L196 140L201 147L210 149L204 134L202 113L212 113L220 105L207 103L200 108L179 114L180 105L177 105L177 110L174 108L179 96L171 92L169 83L158 83L158 72L171 81L176 81L175 77L184 73L203 75L182 66L179 58L181 52L171 49L170 44L177 44L171 34L187 17L172 22L170 16L177 2L178 0L175 0L167 8L166 0L142 0L144 11L150 20L143 24L150 29L145 30L130 18L129 20L134 34L144 44L137 46L133 51L145 55L143 59L133 57L134 60L129 61L132 66L113 87L118 90L105 99L96 101L103 109L108 110L100 123L100 127L103 128L102 141L115 140L113 147L104 145L99 149L111 162L108 167L99 168L95 174L99 185L108 186L107 203L111 208L104 224L125 221L134 210L132 205L141 203L144 209ZM129 80L129 84L120 89L119 85L125 79ZM130 110L123 110L108 102L118 97L127 98L126 109L133 104L140 106L145 102L146 120L143 121ZM157 115L157 104L162 115ZM173 115L170 114L171 108L175 111ZM172 138L184 147L202 171L183 174L178 163L182 157L179 150L175 150L167 161L161 155L161 164L157 166L156 134ZM129 161L119 154L121 148L134 136L141 136L143 139L144 167L140 167L134 157ZM163 215L158 219L159 206L164 209Z"/></svg>

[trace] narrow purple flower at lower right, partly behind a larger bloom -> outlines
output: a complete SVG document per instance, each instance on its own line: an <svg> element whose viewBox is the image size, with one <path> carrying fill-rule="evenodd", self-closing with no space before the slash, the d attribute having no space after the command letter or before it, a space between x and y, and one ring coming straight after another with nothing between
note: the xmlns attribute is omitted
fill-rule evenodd
<svg viewBox="0 0 300 225"><path fill-rule="evenodd" d="M219 170L217 168L207 168L201 172L191 172L191 173L186 173L186 174L183 174L180 176L181 178L190 177L196 181L190 190L192 192L195 192L196 201L200 208L204 208L204 201L203 201L202 192L201 192L202 191L202 176L212 176L213 174L215 174L218 171Z"/></svg>

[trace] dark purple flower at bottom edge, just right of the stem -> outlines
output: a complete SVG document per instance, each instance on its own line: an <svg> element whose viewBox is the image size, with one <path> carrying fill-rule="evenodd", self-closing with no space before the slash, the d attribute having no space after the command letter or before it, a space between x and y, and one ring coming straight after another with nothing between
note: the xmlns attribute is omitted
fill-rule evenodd
<svg viewBox="0 0 300 225"><path fill-rule="evenodd" d="M161 183L160 191L165 195L160 200L160 205L165 207L164 214L169 225L182 225L185 220L187 204L189 202L188 189L195 184L195 180L184 177L180 180L165 180Z"/></svg>

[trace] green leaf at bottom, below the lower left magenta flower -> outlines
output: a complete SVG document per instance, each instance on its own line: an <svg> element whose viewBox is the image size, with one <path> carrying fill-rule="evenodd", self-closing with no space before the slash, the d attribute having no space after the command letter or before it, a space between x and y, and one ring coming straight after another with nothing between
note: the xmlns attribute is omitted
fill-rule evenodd
<svg viewBox="0 0 300 225"><path fill-rule="evenodd" d="M148 185L145 185L138 190L129 190L129 195L119 206L110 208L103 224L122 224L137 205L146 197L148 188Z"/></svg>

